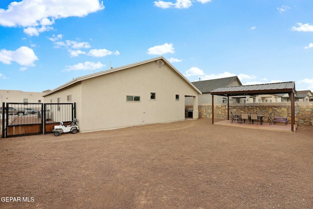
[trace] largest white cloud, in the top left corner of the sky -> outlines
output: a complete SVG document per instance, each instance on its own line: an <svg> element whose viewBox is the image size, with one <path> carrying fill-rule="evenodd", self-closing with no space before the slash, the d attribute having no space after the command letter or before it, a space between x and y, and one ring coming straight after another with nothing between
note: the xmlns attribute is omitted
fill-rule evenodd
<svg viewBox="0 0 313 209"><path fill-rule="evenodd" d="M104 9L99 0L22 0L11 2L8 9L0 9L0 25L22 26L30 36L51 30L54 21L67 17L84 17Z"/></svg>

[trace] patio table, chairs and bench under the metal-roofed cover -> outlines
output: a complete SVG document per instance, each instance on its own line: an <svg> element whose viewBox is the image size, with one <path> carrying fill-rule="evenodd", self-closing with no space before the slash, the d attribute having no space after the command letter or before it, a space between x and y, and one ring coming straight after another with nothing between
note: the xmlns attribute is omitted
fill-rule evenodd
<svg viewBox="0 0 313 209"><path fill-rule="evenodd" d="M258 122L260 121L260 125L262 125L263 122L267 120L268 124L272 125L271 117L273 113L270 113L267 118L264 117L263 112L241 113L240 111L236 111L235 114L233 112L230 112L230 114L231 114L231 121L230 121L231 123L237 120L237 122L239 123L243 123L243 122L245 123L246 121L249 121L249 124L251 124L251 122L253 124L256 121L258 125ZM287 117L274 116L273 118L274 118L273 124L276 124L277 122L284 122L285 125L288 124Z"/></svg>

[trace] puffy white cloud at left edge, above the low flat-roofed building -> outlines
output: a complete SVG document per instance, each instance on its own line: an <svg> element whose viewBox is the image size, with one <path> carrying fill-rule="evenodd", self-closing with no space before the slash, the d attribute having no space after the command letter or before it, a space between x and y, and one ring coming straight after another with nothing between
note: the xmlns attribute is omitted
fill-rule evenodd
<svg viewBox="0 0 313 209"><path fill-rule="evenodd" d="M34 62L38 60L33 49L27 46L21 46L16 51L1 49L0 62L4 64L11 64L16 62L22 66L35 66Z"/></svg>

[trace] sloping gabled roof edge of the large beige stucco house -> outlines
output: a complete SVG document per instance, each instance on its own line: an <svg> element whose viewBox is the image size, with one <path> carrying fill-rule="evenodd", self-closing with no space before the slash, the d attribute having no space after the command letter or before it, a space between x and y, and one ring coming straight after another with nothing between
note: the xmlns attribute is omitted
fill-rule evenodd
<svg viewBox="0 0 313 209"><path fill-rule="evenodd" d="M71 86L73 84L76 84L78 82L81 82L81 81L84 81L84 80L87 80L87 79L91 79L91 78L98 77L98 76L101 76L101 75L109 74L109 73L116 72L116 71L119 71L119 70L125 70L125 69L129 69L129 68L133 68L133 67L136 67L136 66L140 66L140 65L143 65L143 64L146 64L146 63L150 63L150 62L154 62L154 61L158 61L158 60L163 60L164 63L166 63L173 71L175 71L178 74L179 77L181 77L186 83L189 84L190 87L195 89L199 94L202 94L201 91L199 89L197 89L197 87L195 87L185 76L183 76L163 56L160 56L160 57L156 57L156 58L153 58L153 59L137 62L137 63L134 63L134 64L129 64L129 65L118 67L118 68L112 68L110 70L104 70L104 71L100 71L100 72L96 72L96 73L92 73L92 74L89 74L89 75L85 75L85 76L82 76L82 77L75 78L75 79L67 82L64 85L59 86L58 88L56 88L56 89L54 89L54 90L52 90L52 91L50 91L48 93L45 93L43 96L47 96L49 94L55 93L57 91L60 91L60 90L62 90L64 88L67 88L67 87L69 87L69 86Z"/></svg>

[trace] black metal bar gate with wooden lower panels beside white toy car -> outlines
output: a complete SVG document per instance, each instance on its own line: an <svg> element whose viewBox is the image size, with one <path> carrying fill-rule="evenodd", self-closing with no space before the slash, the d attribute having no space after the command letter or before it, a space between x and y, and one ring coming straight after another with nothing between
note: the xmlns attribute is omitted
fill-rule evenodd
<svg viewBox="0 0 313 209"><path fill-rule="evenodd" d="M76 118L75 103L2 103L2 138L52 133ZM4 111L3 111L4 110Z"/></svg>

